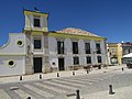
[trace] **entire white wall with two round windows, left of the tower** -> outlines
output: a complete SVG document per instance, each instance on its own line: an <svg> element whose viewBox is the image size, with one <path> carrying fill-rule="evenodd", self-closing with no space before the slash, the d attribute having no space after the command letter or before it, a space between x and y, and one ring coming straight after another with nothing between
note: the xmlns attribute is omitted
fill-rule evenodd
<svg viewBox="0 0 132 99"><path fill-rule="evenodd" d="M23 42L23 46L16 44L18 41ZM23 33L10 34L9 42L0 47L0 76L22 75L25 73L25 55L26 43ZM9 61L13 61L15 65L10 67Z"/></svg>

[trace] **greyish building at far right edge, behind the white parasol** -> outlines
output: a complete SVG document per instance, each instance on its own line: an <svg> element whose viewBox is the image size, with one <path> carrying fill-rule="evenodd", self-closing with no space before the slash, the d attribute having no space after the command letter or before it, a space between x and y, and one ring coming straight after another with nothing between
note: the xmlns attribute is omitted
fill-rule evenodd
<svg viewBox="0 0 132 99"><path fill-rule="evenodd" d="M131 42L125 42L125 43L121 43L121 44L122 44L122 56L132 53L132 43ZM129 62L132 62L132 57L122 58L123 64L127 64Z"/></svg>

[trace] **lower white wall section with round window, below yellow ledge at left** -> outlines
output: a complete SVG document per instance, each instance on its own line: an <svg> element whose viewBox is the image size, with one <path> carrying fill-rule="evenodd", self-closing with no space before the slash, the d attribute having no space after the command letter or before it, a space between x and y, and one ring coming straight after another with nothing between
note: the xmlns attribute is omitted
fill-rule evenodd
<svg viewBox="0 0 132 99"><path fill-rule="evenodd" d="M10 67L9 61L14 61L15 65ZM0 76L25 74L25 56L0 56Z"/></svg>

